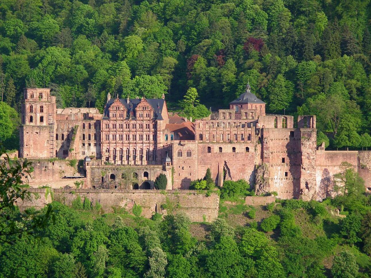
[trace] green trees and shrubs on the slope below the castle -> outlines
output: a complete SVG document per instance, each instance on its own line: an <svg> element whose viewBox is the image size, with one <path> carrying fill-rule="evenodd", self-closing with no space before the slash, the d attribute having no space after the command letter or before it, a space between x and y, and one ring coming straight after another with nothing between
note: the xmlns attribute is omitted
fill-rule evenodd
<svg viewBox="0 0 371 278"><path fill-rule="evenodd" d="M10 177L19 177L17 165ZM216 189L221 202L212 223L191 223L176 201L150 220L139 205L106 213L78 194L72 207L54 201L19 213L3 194L20 193L16 179L2 179L0 277L370 278L371 195L351 165L337 175L344 195L322 203L247 206L250 185L226 181Z"/></svg>

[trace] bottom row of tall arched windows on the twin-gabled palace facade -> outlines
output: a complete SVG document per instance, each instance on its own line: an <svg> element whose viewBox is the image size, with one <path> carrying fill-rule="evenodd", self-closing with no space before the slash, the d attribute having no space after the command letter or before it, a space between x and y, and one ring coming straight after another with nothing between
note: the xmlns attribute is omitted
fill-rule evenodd
<svg viewBox="0 0 371 278"><path fill-rule="evenodd" d="M122 148L119 148L119 149L113 148L112 153L110 153L109 148L106 148L105 149L105 156L106 156L105 160L109 161L110 156L112 160L118 160L118 161L137 160L137 158L140 161L143 160L144 158L146 161L150 161L151 158L152 158L152 161L157 160L156 150L150 151L150 149L147 148L144 150L144 152L145 153L143 154L142 148L139 148L138 153L137 153L136 148L133 148L131 151L129 150L129 148L126 148L125 153Z"/></svg>

